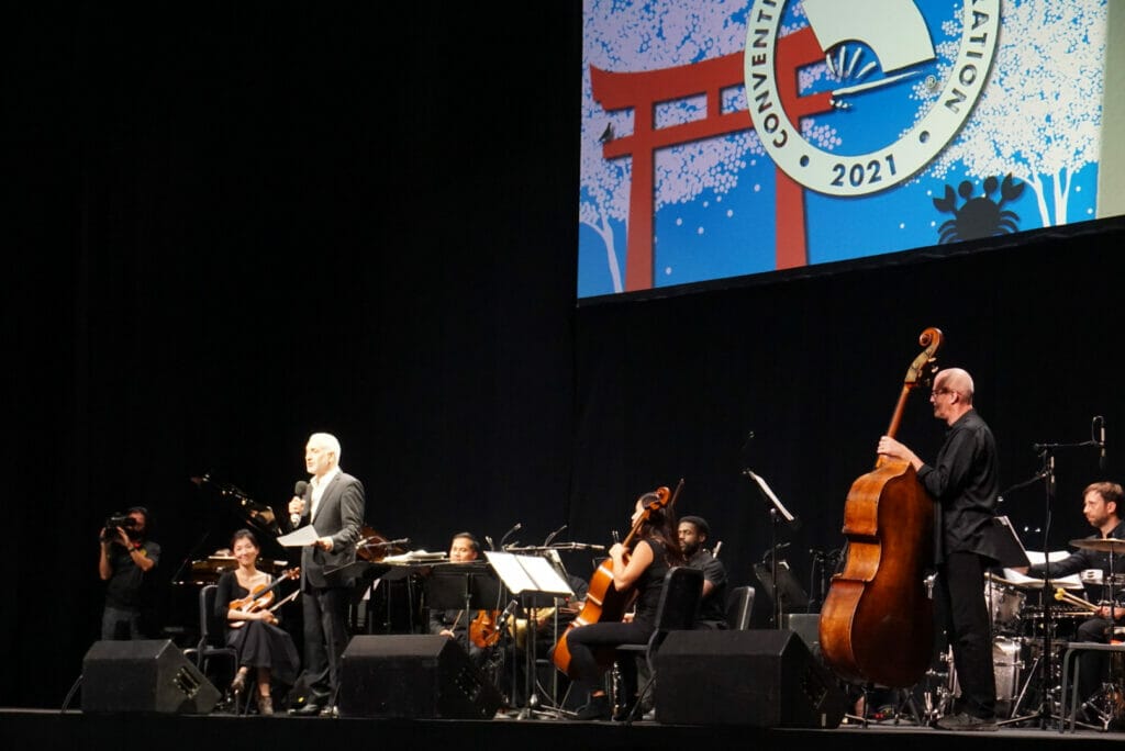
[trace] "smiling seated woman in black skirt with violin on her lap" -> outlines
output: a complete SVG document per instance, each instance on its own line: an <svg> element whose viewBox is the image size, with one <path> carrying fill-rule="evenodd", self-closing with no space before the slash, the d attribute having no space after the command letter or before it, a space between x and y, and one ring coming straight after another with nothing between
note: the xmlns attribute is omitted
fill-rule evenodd
<svg viewBox="0 0 1125 751"><path fill-rule="evenodd" d="M226 643L238 652L238 670L231 684L235 705L246 689L250 670L255 671L258 712L273 714L270 684L292 685L300 667L300 657L287 631L278 626L274 592L286 579L292 579L299 569L286 571L274 579L258 570L261 548L250 530L238 530L231 541L237 568L225 571L218 580L215 597L215 616L226 618ZM289 599L289 598L285 598Z"/></svg>

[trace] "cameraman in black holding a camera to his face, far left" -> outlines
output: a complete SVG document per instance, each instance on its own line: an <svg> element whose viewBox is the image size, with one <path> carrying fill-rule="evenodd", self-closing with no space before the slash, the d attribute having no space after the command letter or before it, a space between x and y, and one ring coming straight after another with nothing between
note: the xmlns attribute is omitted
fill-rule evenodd
<svg viewBox="0 0 1125 751"><path fill-rule="evenodd" d="M114 515L102 526L98 573L106 586L101 639L143 639L141 610L145 574L160 561L160 545L145 539L148 512L134 506L126 515Z"/></svg>

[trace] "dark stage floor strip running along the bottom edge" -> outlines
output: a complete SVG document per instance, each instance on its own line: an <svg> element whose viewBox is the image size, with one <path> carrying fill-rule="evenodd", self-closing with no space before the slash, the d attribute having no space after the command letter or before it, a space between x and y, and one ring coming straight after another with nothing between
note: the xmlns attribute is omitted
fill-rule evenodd
<svg viewBox="0 0 1125 751"><path fill-rule="evenodd" d="M495 720L374 720L363 717L272 717L222 714L83 714L79 711L0 708L0 738L7 748L120 748L141 741L162 751L198 751L223 739L224 744L267 744L274 750L326 748L343 744L362 748L387 742L441 744L442 748L515 749L626 749L645 748L683 751L700 743L710 748L746 748L759 751L792 751L817 744L821 751L849 751L863 743L868 751L947 751L1004 743L1014 748L1060 748L1082 744L1083 749L1122 748L1125 733L1079 727L1004 726L996 732L951 733L927 726L893 722L845 721L829 730L798 727L752 727L744 725L669 725L654 721L578 722L552 717ZM448 744L448 745L447 745Z"/></svg>

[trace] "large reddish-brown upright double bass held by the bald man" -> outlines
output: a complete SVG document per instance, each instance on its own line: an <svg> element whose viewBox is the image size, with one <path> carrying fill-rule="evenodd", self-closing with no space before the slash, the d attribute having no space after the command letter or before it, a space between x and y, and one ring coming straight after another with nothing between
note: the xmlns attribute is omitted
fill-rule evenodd
<svg viewBox="0 0 1125 751"><path fill-rule="evenodd" d="M894 437L910 391L937 371L942 332L927 328L925 350L907 369L886 435ZM908 688L930 663L934 607L926 568L934 559L934 499L909 462L880 456L852 483L844 507L843 570L820 610L820 649L842 678Z"/></svg>

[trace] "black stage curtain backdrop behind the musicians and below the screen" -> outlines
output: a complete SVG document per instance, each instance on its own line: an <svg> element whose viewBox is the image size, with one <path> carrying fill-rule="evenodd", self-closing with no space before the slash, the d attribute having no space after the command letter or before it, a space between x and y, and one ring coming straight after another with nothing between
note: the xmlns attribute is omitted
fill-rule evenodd
<svg viewBox="0 0 1125 751"><path fill-rule="evenodd" d="M107 515L152 510L153 627L174 626L181 564L243 523L191 478L280 510L313 431L340 436L367 522L429 550L516 522L524 545L562 524L609 544L684 478L735 583L771 540L748 467L800 516L778 542L813 591L925 327L975 376L1006 483L1034 442L1125 425L1120 223L578 308L580 6L489 12L7 11L0 705L58 707L76 679ZM900 437L939 444L925 395ZM1105 472L1060 456L1058 541L1110 446ZM1006 510L1038 527L1043 498Z"/></svg>

